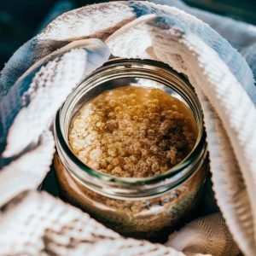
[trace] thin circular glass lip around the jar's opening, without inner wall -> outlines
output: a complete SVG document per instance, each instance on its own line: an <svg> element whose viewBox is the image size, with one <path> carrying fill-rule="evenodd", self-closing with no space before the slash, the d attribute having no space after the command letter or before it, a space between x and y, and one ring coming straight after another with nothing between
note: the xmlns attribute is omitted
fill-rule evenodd
<svg viewBox="0 0 256 256"><path fill-rule="evenodd" d="M159 62L159 61L152 61L152 60L141 60L141 59L113 59L110 61L107 61L104 63L104 65L98 69L96 69L95 72L90 73L90 75L84 79L79 86L74 90L78 90L80 86L82 86L86 81L89 81L91 78L95 78L96 75L99 73L102 73L104 70L111 68L111 67L118 67L118 66L127 66L130 65L146 65L148 67L157 67L161 69L164 73L168 73L169 75L175 75L177 79L183 81L184 84L186 84L190 90L190 92L195 96L195 102L197 104L198 114L200 115L199 118L201 120L201 127L199 127L198 131L198 137L195 142L194 148L190 151L190 153L176 166L173 166L171 169L169 169L166 172L160 173L159 175L155 175L152 177L114 177L106 173L98 172L93 169L91 169L89 166L86 166L84 162L79 160L79 158L73 153L72 149L69 147L69 144L67 143L67 140L63 136L63 130L61 129L61 114L63 111L63 106L65 105L65 102L61 109L56 114L55 117L55 141L58 151L61 151L62 153L66 154L66 157L68 157L70 160L73 161L73 164L77 167L79 167L79 171L85 172L86 177L91 177L95 180L106 182L106 183L119 183L122 185L145 185L145 184L155 184L159 183L166 178L170 179L172 178L172 183L177 185L178 183L182 183L185 177L190 176L193 173L193 170L189 168L191 163L195 161L197 158L204 157L207 152L207 146L206 146L206 133L203 129L203 115L201 112L201 105L199 100L196 97L195 91L193 89L193 86L189 83L189 80L181 73L177 73L175 70L172 69L172 67L169 67L167 64ZM74 93L73 91L73 93ZM67 99L69 99L73 93L68 96ZM62 159L63 160L63 159ZM67 164L68 165L68 164ZM71 168L71 171L73 168ZM79 180L82 179L84 181L84 173L82 172L73 172L74 177L77 177ZM88 180L86 181L88 182Z"/></svg>

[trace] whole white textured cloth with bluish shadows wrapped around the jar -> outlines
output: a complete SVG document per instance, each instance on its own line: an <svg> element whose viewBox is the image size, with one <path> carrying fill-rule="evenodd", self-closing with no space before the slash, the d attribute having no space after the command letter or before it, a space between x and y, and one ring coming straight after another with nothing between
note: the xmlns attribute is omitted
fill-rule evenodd
<svg viewBox="0 0 256 256"><path fill-rule="evenodd" d="M204 13L199 14L203 18ZM213 22L215 17L209 17ZM105 44L86 38L98 38ZM49 170L54 143L47 127L57 108L86 74L108 60L110 53L166 62L188 76L201 101L213 189L224 219L217 214L185 226L170 236L166 245L173 248L125 240L49 195L20 195L36 189ZM3 207L0 253L80 255L86 250L92 255L237 255L230 230L242 253L254 255L253 83L253 73L236 49L210 26L176 8L140 1L113 2L76 9L55 19L16 51L0 78L0 204L20 195ZM47 218L51 214L55 218ZM72 218L64 218L66 214ZM58 222L62 215L65 221ZM38 229L32 228L35 226ZM78 226L84 228L81 236L76 235ZM71 232L74 245L67 230L75 230ZM99 233L95 234L96 230ZM105 232L107 235L102 235ZM26 251L28 244L32 251Z"/></svg>

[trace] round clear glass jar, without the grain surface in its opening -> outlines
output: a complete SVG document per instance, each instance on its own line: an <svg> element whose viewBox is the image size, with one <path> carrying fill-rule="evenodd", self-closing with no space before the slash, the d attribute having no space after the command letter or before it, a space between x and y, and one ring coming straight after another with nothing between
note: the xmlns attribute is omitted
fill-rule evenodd
<svg viewBox="0 0 256 256"><path fill-rule="evenodd" d="M73 154L68 131L85 102L119 86L165 90L193 113L195 147L177 166L155 177L113 177L90 169ZM157 239L191 214L205 181L208 161L201 105L193 87L171 67L148 60L108 61L67 98L55 118L55 174L63 199L125 236Z"/></svg>

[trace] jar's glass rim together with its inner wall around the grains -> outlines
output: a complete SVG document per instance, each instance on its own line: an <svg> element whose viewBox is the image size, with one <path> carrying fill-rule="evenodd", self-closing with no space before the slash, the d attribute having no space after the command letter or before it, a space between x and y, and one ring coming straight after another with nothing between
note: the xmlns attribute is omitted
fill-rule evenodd
<svg viewBox="0 0 256 256"><path fill-rule="evenodd" d="M192 111L198 128L198 136L194 148L190 153L176 166L173 166L168 171L152 177L114 177L106 173L102 173L86 166L84 162L73 153L68 143L68 131L73 119L74 113L77 113L82 103L89 101L91 98L99 95L104 90L111 90L121 86L125 81L130 81L131 86L137 86L136 83L146 82L146 86L152 88L161 87L168 90L168 93L177 97L184 102ZM118 83L119 81L119 83ZM151 84L149 83L151 81ZM133 84L132 84L132 83ZM124 84L123 84L124 86ZM143 84L143 87L146 87ZM107 183L119 183L127 185L153 184L159 183L166 178L172 178L173 184L183 182L183 180L191 175L197 167L197 163L202 157L205 157L206 149L206 134L203 128L203 116L201 105L195 90L189 84L188 79L180 73L177 73L168 65L151 60L139 59L114 59L106 62L102 67L98 68L94 73L91 73L79 86L73 90L73 93L68 96L67 101L58 111L55 117L55 141L58 151L66 155L61 159L67 166L70 166L70 171L74 177L79 180L88 181L88 177L97 179ZM72 160L72 164L65 161L65 158ZM75 166L75 168L73 168ZM170 182L170 180L169 180Z"/></svg>

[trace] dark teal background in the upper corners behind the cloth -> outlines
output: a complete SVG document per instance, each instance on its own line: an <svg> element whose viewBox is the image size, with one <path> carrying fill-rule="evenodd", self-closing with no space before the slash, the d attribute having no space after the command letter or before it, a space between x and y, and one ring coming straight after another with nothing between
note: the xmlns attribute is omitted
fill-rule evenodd
<svg viewBox="0 0 256 256"><path fill-rule="evenodd" d="M0 70L15 49L37 34L55 15L86 4L109 1L0 0ZM256 24L256 0L184 0L189 5ZM61 7L61 8L60 8Z"/></svg>

